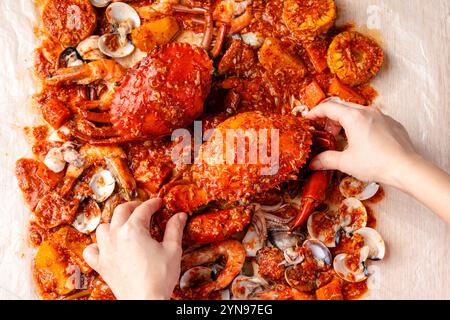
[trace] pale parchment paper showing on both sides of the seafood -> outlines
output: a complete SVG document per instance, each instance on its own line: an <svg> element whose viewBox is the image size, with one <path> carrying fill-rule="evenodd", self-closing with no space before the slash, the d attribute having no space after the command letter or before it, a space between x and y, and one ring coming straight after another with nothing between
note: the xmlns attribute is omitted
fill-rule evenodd
<svg viewBox="0 0 450 320"><path fill-rule="evenodd" d="M340 21L374 36L386 63L374 81L382 109L404 124L417 148L450 171L450 1L338 0ZM30 155L21 127L38 120L28 106L36 47L32 0L0 1L0 298L34 299L29 213L14 163ZM387 257L372 264L367 299L450 299L450 228L391 188L375 208ZM450 207L450 204L449 204Z"/></svg>

